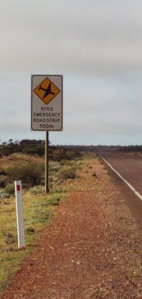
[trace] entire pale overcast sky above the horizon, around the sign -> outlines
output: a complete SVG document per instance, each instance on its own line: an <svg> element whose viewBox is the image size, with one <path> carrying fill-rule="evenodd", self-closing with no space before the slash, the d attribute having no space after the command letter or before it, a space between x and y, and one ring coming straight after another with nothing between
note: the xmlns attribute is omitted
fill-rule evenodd
<svg viewBox="0 0 142 299"><path fill-rule="evenodd" d="M31 131L31 74L62 74L54 145L142 144L142 1L1 0L0 139Z"/></svg>

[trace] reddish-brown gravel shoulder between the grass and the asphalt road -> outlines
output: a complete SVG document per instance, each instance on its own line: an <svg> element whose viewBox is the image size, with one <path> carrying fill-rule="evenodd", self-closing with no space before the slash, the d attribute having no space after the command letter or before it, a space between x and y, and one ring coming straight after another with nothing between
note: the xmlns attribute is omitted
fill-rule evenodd
<svg viewBox="0 0 142 299"><path fill-rule="evenodd" d="M124 193L96 158L68 184L72 191L1 299L142 298L142 231Z"/></svg>

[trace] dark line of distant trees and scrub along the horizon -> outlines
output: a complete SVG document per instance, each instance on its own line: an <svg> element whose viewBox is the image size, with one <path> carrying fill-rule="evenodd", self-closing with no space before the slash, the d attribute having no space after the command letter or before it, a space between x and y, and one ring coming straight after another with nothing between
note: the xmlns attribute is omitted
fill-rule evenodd
<svg viewBox="0 0 142 299"><path fill-rule="evenodd" d="M50 142L49 142L50 144ZM0 144L0 157L9 156L15 152L23 154L36 154L40 157L45 154L45 140L21 140L2 142ZM50 145L50 159L74 159L85 152L142 152L142 145Z"/></svg>

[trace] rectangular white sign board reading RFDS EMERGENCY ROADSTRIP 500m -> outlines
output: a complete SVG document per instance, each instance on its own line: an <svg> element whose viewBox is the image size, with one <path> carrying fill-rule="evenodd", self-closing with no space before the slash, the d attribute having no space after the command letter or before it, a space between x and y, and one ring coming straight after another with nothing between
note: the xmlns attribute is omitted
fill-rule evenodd
<svg viewBox="0 0 142 299"><path fill-rule="evenodd" d="M62 76L31 76L31 130L62 130Z"/></svg>

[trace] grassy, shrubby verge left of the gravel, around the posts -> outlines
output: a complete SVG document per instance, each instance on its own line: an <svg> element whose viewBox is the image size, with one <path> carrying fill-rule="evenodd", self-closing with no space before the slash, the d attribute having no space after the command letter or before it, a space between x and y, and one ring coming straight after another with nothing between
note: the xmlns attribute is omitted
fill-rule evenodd
<svg viewBox="0 0 142 299"><path fill-rule="evenodd" d="M40 142L41 148L43 143ZM50 224L60 200L67 196L82 168L83 155L61 148L50 149L50 193L45 193L45 159L30 145L17 151L20 142L0 146L0 294L24 256L36 247L43 227ZM10 153L11 148L15 151ZM10 149L10 150L9 150ZM28 149L26 151L26 149ZM5 150L5 151L4 151ZM8 154L9 152L9 154ZM23 185L23 218L26 247L18 249L14 181Z"/></svg>

